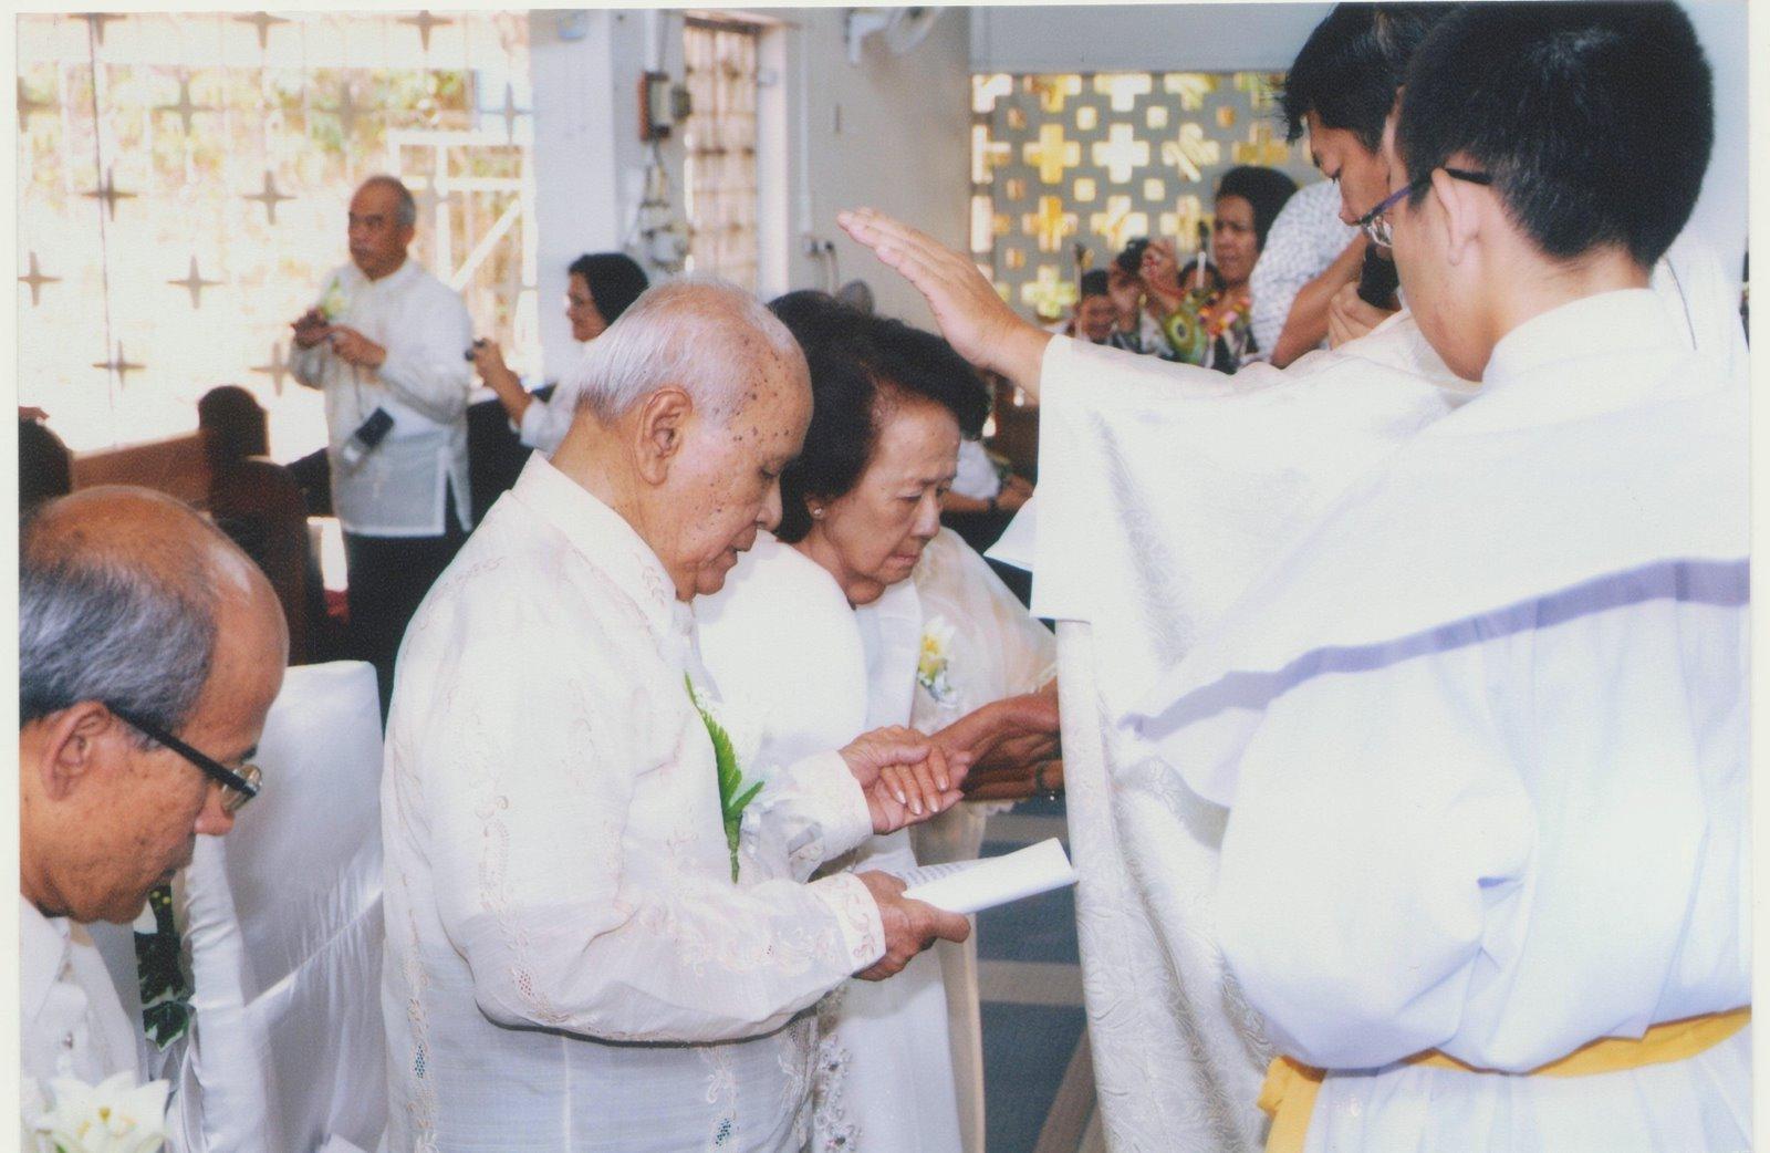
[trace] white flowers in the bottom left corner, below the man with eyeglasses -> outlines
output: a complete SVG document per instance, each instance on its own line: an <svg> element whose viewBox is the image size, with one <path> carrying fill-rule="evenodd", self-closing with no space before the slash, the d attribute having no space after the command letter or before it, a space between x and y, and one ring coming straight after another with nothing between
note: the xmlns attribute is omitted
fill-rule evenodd
<svg viewBox="0 0 1770 1153"><path fill-rule="evenodd" d="M28 1153L154 1153L166 1144L170 1082L135 1084L133 1073L106 1077L96 1086L71 1077L42 1087L23 1084L23 1148Z"/></svg>

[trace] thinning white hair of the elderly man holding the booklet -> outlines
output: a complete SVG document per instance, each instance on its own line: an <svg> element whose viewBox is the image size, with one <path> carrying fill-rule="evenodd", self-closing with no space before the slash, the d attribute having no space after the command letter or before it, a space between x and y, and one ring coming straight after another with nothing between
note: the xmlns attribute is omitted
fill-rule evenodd
<svg viewBox="0 0 1770 1153"><path fill-rule="evenodd" d="M674 384L696 407L726 420L745 404L749 368L784 358L809 379L793 333L743 289L715 276L685 276L648 289L584 349L561 390L575 386L579 411L620 420Z"/></svg>

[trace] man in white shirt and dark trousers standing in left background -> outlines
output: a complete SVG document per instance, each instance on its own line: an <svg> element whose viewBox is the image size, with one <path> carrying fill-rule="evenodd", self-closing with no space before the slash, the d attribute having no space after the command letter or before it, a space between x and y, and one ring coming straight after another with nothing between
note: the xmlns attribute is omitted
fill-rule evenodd
<svg viewBox="0 0 1770 1153"><path fill-rule="evenodd" d="M294 375L326 393L350 639L375 666L382 710L405 623L473 528L473 322L460 296L407 255L416 223L400 181L365 181L350 198L350 262L292 326Z"/></svg>

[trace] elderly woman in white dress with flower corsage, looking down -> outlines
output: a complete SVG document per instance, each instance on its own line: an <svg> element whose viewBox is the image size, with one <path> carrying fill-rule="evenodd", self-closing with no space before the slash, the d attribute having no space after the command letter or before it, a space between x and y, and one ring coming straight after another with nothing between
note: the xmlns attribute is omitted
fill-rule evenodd
<svg viewBox="0 0 1770 1153"><path fill-rule="evenodd" d="M1051 638L940 528L959 437L975 437L988 414L982 383L938 337L896 321L812 294L775 310L811 363L812 423L782 475L779 535L696 606L701 657L726 708L754 730L756 763L910 723L977 754L972 785L986 792L1025 795L1034 776L1055 785L1055 767L1020 769L1055 756L1055 694L1035 693L1051 677ZM975 855L982 818L949 820L942 855ZM903 871L917 859L904 832L837 864L860 863ZM850 981L820 1006L814 1149L981 1148L975 965L965 962L958 955L954 1001L968 1010L956 1043L935 956L883 985Z"/></svg>

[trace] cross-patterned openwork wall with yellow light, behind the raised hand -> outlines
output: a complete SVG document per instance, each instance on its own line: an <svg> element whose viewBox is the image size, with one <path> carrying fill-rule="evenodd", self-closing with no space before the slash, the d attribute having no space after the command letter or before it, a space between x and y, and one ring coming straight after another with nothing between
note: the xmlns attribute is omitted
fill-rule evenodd
<svg viewBox="0 0 1770 1153"><path fill-rule="evenodd" d="M1028 315L1062 315L1081 266L1163 236L1197 251L1211 193L1235 165L1297 184L1320 174L1285 143L1273 73L972 76L972 255Z"/></svg>

